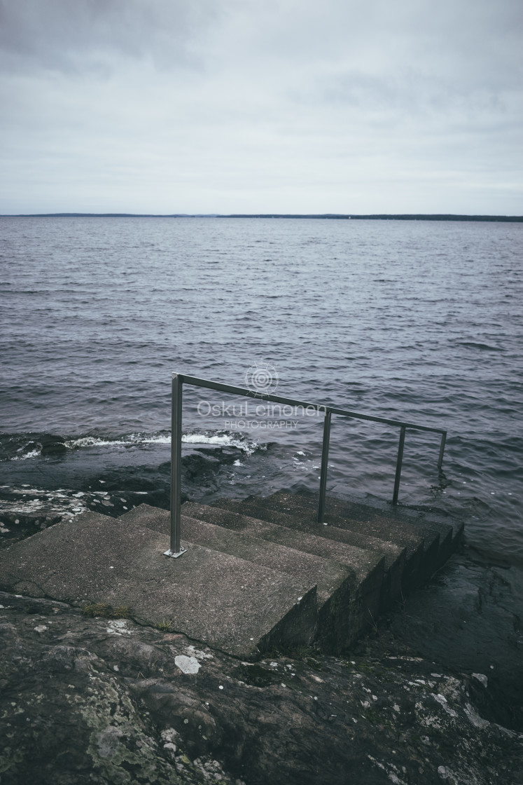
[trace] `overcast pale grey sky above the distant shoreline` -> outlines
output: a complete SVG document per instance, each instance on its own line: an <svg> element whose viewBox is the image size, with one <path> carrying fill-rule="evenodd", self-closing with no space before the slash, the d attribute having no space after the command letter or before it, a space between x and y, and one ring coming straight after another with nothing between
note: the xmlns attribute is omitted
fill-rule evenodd
<svg viewBox="0 0 523 785"><path fill-rule="evenodd" d="M521 0L0 0L0 214L523 214Z"/></svg>

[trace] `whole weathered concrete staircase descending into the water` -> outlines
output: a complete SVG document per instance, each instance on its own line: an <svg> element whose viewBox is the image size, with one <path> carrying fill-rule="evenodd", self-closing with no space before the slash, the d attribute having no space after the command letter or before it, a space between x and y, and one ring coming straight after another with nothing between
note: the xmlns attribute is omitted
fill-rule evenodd
<svg viewBox="0 0 523 785"><path fill-rule="evenodd" d="M179 559L162 556L169 513L84 513L0 553L0 587L85 604L127 605L224 652L318 644L341 652L455 549L463 527L277 493L182 506Z"/></svg>

